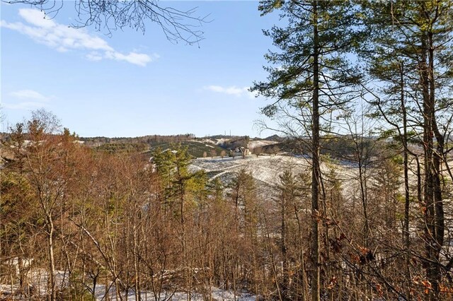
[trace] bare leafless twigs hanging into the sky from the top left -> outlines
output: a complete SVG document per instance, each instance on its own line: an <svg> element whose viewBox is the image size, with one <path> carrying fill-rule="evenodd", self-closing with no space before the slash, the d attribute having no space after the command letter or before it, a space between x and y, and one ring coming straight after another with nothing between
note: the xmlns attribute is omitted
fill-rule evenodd
<svg viewBox="0 0 453 301"><path fill-rule="evenodd" d="M75 28L94 26L111 35L125 27L145 33L147 23L156 23L171 42L183 41L193 45L204 39L200 30L207 16L196 16L197 8L188 11L157 4L156 0L1 0L8 4L29 4L55 18L64 5L74 4Z"/></svg>

